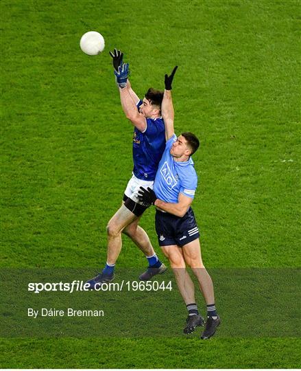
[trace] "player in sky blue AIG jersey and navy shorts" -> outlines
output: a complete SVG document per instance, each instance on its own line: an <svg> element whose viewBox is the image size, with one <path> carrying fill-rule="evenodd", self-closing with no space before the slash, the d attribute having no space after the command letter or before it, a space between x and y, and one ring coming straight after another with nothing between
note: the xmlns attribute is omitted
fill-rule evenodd
<svg viewBox="0 0 301 371"><path fill-rule="evenodd" d="M162 155L154 183L154 190L141 188L139 199L156 206L156 232L163 253L169 258L178 289L188 311L184 333L192 333L204 319L197 311L195 287L186 271L189 265L195 274L207 304L206 328L202 339L215 334L220 324L215 308L213 282L206 271L201 256L200 233L191 203L197 188L197 174L191 155L200 145L193 133L176 137L173 130L173 104L171 100L171 76L165 75L165 91L162 101L162 117L165 121L166 147Z"/></svg>

